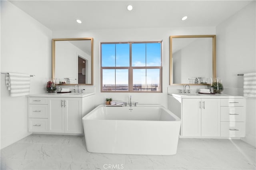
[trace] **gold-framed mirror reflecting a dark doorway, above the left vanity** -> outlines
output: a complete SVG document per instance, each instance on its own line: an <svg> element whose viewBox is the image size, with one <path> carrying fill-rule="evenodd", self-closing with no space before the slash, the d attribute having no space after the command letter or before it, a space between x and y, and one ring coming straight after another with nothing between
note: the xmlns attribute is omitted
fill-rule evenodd
<svg viewBox="0 0 256 170"><path fill-rule="evenodd" d="M93 38L52 39L52 79L57 85L93 85Z"/></svg>

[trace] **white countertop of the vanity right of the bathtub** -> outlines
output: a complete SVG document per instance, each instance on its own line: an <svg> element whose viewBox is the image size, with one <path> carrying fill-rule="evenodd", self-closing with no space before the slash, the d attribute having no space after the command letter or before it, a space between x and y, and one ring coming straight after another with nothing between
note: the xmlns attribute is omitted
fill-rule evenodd
<svg viewBox="0 0 256 170"><path fill-rule="evenodd" d="M199 94L199 93L168 93L168 95L172 95L174 97L179 98L244 98L244 96L232 96L232 95L226 95L223 93L220 94Z"/></svg>

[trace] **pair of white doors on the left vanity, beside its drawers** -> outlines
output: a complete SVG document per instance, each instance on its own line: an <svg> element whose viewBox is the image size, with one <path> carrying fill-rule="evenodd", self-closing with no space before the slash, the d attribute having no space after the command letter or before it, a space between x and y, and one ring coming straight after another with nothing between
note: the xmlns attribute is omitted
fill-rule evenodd
<svg viewBox="0 0 256 170"><path fill-rule="evenodd" d="M48 100L49 132L82 133L82 99L52 97Z"/></svg>

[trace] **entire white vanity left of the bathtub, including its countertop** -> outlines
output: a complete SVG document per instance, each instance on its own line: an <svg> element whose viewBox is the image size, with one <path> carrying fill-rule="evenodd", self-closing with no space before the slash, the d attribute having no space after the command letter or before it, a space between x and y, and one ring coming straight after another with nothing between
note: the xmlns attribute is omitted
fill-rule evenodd
<svg viewBox="0 0 256 170"><path fill-rule="evenodd" d="M82 117L94 108L94 93L30 95L28 131L82 134Z"/></svg>

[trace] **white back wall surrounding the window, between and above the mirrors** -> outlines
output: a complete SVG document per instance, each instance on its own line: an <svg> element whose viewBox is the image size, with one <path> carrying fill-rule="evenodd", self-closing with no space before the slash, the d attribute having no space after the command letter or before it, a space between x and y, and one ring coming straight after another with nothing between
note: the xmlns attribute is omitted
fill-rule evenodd
<svg viewBox="0 0 256 170"><path fill-rule="evenodd" d="M104 104L106 97L113 100L132 103L167 105L167 87L169 86L169 37L171 35L215 34L215 27L116 29L87 31L53 31L53 38L94 38L94 86L96 87L96 105ZM163 93L100 93L100 42L159 41L163 40Z"/></svg>

